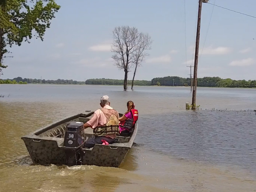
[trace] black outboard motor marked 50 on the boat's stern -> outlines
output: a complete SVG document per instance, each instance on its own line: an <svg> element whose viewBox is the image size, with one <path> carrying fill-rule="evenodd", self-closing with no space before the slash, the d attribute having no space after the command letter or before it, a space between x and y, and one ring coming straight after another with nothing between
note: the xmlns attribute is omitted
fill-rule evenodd
<svg viewBox="0 0 256 192"><path fill-rule="evenodd" d="M63 148L67 158L67 165L81 165L84 151L84 128L82 122L70 122L67 124Z"/></svg>

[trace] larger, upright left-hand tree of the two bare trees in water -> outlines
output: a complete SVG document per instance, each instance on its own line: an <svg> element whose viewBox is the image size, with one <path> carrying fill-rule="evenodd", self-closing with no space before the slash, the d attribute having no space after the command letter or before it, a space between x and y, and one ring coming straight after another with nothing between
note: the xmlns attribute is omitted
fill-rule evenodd
<svg viewBox="0 0 256 192"><path fill-rule="evenodd" d="M129 69L135 63L135 54L138 49L140 33L135 27L122 26L113 30L113 44L111 52L114 65L124 70L124 90L127 90L127 77Z"/></svg>

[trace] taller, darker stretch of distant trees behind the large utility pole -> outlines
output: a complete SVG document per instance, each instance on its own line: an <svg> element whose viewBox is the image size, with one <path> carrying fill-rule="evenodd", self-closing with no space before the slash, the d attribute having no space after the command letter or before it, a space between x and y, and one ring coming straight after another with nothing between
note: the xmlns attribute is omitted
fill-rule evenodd
<svg viewBox="0 0 256 192"><path fill-rule="evenodd" d="M178 76L167 76L163 78L153 78L152 86L191 86L190 78ZM256 87L256 80L232 80L221 79L219 77L204 77L197 79L199 87Z"/></svg>

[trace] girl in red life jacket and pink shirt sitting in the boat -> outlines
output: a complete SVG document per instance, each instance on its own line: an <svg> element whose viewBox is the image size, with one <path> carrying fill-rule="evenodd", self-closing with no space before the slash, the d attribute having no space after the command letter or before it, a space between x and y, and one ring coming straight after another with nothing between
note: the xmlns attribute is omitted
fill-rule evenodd
<svg viewBox="0 0 256 192"><path fill-rule="evenodd" d="M127 102L127 112L124 113L122 117L119 118L120 124L120 136L132 133L134 130L134 124L138 120L139 113L135 109L135 105L132 101Z"/></svg>

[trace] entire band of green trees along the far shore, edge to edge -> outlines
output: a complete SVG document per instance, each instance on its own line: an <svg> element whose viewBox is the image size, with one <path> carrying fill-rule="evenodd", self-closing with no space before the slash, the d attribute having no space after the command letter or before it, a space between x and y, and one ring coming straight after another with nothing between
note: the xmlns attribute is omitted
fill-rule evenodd
<svg viewBox="0 0 256 192"><path fill-rule="evenodd" d="M0 79L0 84L66 84L66 85L109 85L123 86L124 80L119 79L87 79L84 81L76 80L45 80L45 79L27 79L17 77L14 79ZM131 86L132 80L127 80L127 85ZM134 80L134 86L176 86L190 87L190 78L181 78L177 76L167 76L163 78L153 78L148 80ZM219 77L204 77L197 79L198 87L226 87L226 88L256 88L256 80L233 80L221 79Z"/></svg>

